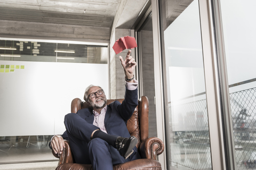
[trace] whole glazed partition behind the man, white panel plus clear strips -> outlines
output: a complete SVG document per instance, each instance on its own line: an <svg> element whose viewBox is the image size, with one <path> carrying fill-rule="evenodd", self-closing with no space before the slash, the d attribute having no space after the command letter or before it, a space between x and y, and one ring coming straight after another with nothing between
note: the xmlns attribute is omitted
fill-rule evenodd
<svg viewBox="0 0 256 170"><path fill-rule="evenodd" d="M109 96L107 49L106 43L0 39L0 164L58 160L49 142L65 131L70 102L83 99L91 83Z"/></svg>

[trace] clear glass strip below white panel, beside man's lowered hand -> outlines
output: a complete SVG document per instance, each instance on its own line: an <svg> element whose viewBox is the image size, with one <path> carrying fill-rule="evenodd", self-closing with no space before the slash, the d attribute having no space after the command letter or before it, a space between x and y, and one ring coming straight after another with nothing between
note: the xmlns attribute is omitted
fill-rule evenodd
<svg viewBox="0 0 256 170"><path fill-rule="evenodd" d="M52 135L0 137L0 164L57 161L49 148Z"/></svg>

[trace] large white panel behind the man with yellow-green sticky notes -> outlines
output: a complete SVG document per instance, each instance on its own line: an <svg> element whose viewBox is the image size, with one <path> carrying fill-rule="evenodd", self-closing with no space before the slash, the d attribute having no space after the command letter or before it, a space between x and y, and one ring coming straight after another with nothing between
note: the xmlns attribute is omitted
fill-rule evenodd
<svg viewBox="0 0 256 170"><path fill-rule="evenodd" d="M22 61L0 61L0 64L0 136L62 134L71 100L77 97L83 100L87 86L100 86L109 96L107 64Z"/></svg>

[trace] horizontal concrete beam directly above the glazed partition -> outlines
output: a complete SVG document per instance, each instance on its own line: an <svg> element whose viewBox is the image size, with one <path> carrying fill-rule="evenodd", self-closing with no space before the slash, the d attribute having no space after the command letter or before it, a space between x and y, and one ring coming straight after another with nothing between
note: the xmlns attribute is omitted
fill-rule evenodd
<svg viewBox="0 0 256 170"><path fill-rule="evenodd" d="M109 42L109 28L38 22L0 21L0 37Z"/></svg>

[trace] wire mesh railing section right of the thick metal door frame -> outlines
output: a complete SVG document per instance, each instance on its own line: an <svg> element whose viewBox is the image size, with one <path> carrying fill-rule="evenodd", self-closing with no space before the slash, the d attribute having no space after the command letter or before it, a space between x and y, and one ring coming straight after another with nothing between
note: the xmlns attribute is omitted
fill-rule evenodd
<svg viewBox="0 0 256 170"><path fill-rule="evenodd" d="M230 94L238 169L256 169L256 88Z"/></svg>

